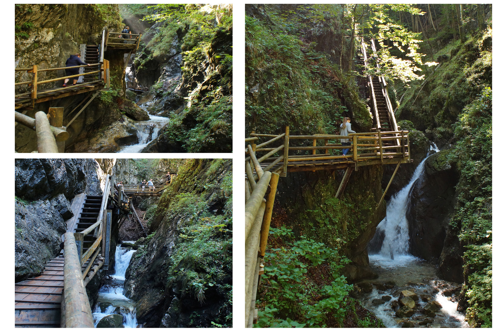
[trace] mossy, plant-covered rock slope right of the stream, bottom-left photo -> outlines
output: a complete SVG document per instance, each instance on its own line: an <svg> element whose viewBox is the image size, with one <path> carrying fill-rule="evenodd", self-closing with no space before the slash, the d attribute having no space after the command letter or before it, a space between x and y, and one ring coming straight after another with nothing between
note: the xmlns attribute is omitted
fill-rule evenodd
<svg viewBox="0 0 500 333"><path fill-rule="evenodd" d="M210 229L209 221L218 217L223 228L232 226L225 205L231 192L224 185L232 177L231 161L184 160L178 174L158 203L153 235L132 256L125 296L137 302L137 322L144 327L230 327L232 240L227 231Z"/></svg>

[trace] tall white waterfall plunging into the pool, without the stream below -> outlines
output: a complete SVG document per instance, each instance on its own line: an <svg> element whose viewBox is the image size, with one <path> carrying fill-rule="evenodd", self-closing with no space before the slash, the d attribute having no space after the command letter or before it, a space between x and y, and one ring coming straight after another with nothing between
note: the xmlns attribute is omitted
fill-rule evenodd
<svg viewBox="0 0 500 333"><path fill-rule="evenodd" d="M392 196L387 203L385 218L380 222L376 230L376 234L384 235L382 246L377 255L370 256L370 260L375 261L378 265L404 266L408 261L417 259L408 254L409 233L406 211L408 210L410 191L415 181L422 174L425 161L430 155L439 151L433 142L430 143L430 147L431 150L418 164L408 184Z"/></svg>

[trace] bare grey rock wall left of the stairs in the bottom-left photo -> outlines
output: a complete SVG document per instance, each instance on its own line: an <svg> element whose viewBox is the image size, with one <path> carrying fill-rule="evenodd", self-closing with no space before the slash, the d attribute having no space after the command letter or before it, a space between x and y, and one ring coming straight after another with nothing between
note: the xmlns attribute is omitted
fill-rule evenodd
<svg viewBox="0 0 500 333"><path fill-rule="evenodd" d="M60 251L76 194L100 195L94 160L15 160L15 281L37 276Z"/></svg>

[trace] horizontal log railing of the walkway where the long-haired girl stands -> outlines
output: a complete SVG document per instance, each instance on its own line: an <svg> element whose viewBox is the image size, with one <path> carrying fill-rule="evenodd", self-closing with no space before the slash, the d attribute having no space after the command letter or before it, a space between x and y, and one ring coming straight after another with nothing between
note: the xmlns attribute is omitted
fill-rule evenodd
<svg viewBox="0 0 500 333"><path fill-rule="evenodd" d="M389 158L398 157L409 160L408 131L349 133L348 136L329 134L289 135L288 131L287 126L285 133L279 135L252 133L251 137L246 138L246 142L255 142L262 138L270 139L258 145L252 143L247 146L245 153L248 156L245 158L245 170L247 172L250 170L250 161L252 161L253 164L256 162L266 162L268 164L262 169L264 172L269 170L277 172L280 176L285 177L289 163L294 161L319 162L322 160L335 160L337 162L353 162L357 170L358 165L366 165L364 162L367 161L380 160L380 163L386 164L385 162L392 162L386 161ZM352 142L348 146L342 146L340 142L329 142L330 140L339 139L351 139ZM400 143L399 145L383 145L384 142L394 142L396 139L400 140L398 141ZM291 140L294 141L295 145L290 145ZM297 142L297 140L299 140L299 142ZM312 145L310 145L311 140ZM319 143L322 141L321 146L317 145L318 140ZM282 144L277 147L267 147L271 143L273 145L278 145L281 142ZM351 148L352 153L341 155L339 150L345 148ZM310 154L289 155L289 151L303 151L304 153L310 151ZM319 151L324 151L324 153L321 154ZM335 153L335 151L338 153ZM256 157L256 153L261 153L262 156ZM255 161L253 161L253 157L255 157ZM346 159L351 160L346 161ZM257 175L253 175L253 178L256 179Z"/></svg>

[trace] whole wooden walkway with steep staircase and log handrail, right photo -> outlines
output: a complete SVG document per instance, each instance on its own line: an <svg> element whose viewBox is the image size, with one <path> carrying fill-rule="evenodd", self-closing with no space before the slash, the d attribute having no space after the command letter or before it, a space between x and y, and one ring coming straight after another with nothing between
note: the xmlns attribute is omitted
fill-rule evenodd
<svg viewBox="0 0 500 333"><path fill-rule="evenodd" d="M363 61L367 64L366 44L361 40ZM375 41L371 51L376 58ZM377 72L379 71L377 64ZM347 136L312 134L290 135L252 132L245 139L245 326L256 323L255 300L259 277L263 273L265 248L279 177L289 172L344 169L335 193L339 198L353 171L367 165L397 164L378 205L401 163L410 163L408 131L397 126L384 77L367 76L373 128L371 132ZM339 139L349 139L342 146ZM257 144L259 140L266 140ZM331 142L332 141L332 142ZM250 144L248 144L250 143ZM340 149L352 150L341 155ZM257 156L260 155L260 156Z"/></svg>

